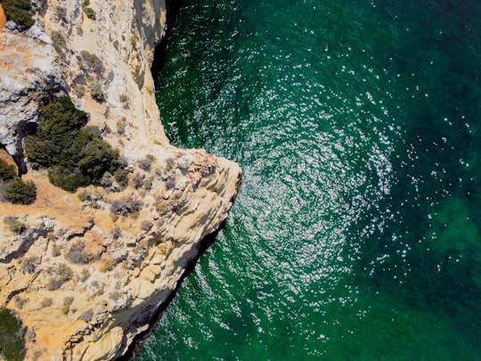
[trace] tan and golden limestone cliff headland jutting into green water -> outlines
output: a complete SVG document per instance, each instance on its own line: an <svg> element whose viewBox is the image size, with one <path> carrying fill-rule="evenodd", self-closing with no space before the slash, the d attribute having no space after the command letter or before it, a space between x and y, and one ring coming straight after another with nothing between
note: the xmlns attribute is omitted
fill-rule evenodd
<svg viewBox="0 0 481 361"><path fill-rule="evenodd" d="M150 72L163 0L32 3L28 34L0 30L0 157L37 185L30 206L0 202L0 308L28 328L27 359L112 359L149 327L200 240L227 217L241 172L175 149L163 133ZM67 193L23 162L40 105L60 94L126 158L126 187ZM24 229L15 233L8 216Z"/></svg>

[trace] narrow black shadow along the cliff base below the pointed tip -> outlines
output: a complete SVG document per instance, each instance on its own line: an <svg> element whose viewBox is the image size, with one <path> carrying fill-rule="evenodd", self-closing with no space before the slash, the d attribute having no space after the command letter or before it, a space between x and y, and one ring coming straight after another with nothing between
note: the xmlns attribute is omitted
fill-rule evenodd
<svg viewBox="0 0 481 361"><path fill-rule="evenodd" d="M122 357L116 358L117 361L128 361L128 360L133 360L137 355L142 351L143 349L143 342L153 333L157 330L157 326L159 324L160 318L162 317L162 314L164 311L167 309L167 307L170 305L173 299L175 299L175 295L177 294L177 291L179 291L180 287L182 286L183 280L187 278L189 275L192 274L192 272L195 269L195 266L197 265L197 262L200 257L208 250L208 248L216 241L217 234L221 230L224 229L225 226L225 221L219 226L219 228L216 230L216 232L213 232L211 234L208 234L206 237L204 237L198 246L199 253L198 255L192 259L192 261L185 267L185 271L183 272L182 277L179 279L177 282L177 286L175 287L175 290L172 291L168 299L164 303L162 303L159 307L159 309L155 312L154 316L152 317L151 324L147 331L142 332L138 334L135 337L134 342L129 346L129 348L126 351L126 354Z"/></svg>

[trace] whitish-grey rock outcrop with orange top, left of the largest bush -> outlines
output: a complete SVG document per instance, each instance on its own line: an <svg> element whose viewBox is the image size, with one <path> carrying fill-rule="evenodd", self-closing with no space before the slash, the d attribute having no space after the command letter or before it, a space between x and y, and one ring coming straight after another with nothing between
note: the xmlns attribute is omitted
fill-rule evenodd
<svg viewBox="0 0 481 361"><path fill-rule="evenodd" d="M40 105L65 94L49 41L37 26L25 34L0 32L0 144L23 171L21 140L36 126Z"/></svg>

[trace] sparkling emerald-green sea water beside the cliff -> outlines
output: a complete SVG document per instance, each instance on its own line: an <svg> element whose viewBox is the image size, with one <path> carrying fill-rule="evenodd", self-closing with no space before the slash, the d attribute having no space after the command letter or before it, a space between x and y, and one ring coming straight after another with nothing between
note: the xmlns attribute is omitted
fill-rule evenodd
<svg viewBox="0 0 481 361"><path fill-rule="evenodd" d="M167 135L244 183L137 359L481 359L481 3L180 4Z"/></svg>

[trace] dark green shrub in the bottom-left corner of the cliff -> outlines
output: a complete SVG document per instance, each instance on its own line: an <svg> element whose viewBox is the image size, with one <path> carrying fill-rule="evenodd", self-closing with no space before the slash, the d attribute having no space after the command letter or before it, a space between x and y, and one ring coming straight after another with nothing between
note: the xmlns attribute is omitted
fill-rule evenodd
<svg viewBox="0 0 481 361"><path fill-rule="evenodd" d="M25 357L25 329L8 308L0 308L0 355L7 361ZM2 357L0 357L2 358Z"/></svg>

